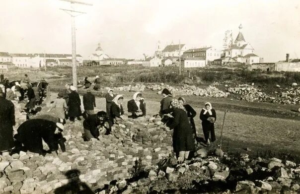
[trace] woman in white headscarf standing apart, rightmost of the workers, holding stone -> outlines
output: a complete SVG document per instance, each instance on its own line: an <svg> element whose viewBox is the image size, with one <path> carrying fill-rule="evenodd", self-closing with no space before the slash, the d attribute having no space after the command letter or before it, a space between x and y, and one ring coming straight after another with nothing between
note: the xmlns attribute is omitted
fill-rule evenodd
<svg viewBox="0 0 300 194"><path fill-rule="evenodd" d="M200 113L200 119L202 121L202 129L204 133L205 142L206 144L210 144L210 133L212 142L216 140L215 122L217 119L216 111L212 108L211 103L205 103L205 108L203 108Z"/></svg>

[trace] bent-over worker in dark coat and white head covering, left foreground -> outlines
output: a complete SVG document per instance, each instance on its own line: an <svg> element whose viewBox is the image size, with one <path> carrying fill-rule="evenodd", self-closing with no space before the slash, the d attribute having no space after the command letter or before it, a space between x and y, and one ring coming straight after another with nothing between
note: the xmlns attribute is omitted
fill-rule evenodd
<svg viewBox="0 0 300 194"><path fill-rule="evenodd" d="M17 129L16 146L23 146L26 150L44 154L43 140L47 143L50 151L56 157L59 146L62 152L66 151L66 139L62 135L64 125L44 119L31 119L22 123Z"/></svg>

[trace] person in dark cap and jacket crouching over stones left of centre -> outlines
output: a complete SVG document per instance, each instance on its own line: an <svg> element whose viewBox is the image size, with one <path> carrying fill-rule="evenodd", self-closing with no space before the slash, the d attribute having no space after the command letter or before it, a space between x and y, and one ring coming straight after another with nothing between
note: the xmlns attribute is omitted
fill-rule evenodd
<svg viewBox="0 0 300 194"><path fill-rule="evenodd" d="M97 114L89 115L86 120L83 121L84 137L86 141L95 138L99 140L100 134L109 133L109 122L106 118L106 112L100 111Z"/></svg>

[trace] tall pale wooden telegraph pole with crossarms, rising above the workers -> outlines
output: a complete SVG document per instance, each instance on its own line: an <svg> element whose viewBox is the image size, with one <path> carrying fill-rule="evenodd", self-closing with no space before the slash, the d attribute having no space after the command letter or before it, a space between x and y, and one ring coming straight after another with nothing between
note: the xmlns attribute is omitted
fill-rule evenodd
<svg viewBox="0 0 300 194"><path fill-rule="evenodd" d="M71 25L72 25L72 74L73 74L73 85L77 87L77 64L76 64L76 34L75 34L75 17L78 15L81 15L85 12L81 11L75 11L73 9L73 5L75 3L77 4L83 4L83 5L93 5L91 3L85 3L81 1L76 0L63 0L71 3L71 9L61 9L67 12L69 15L71 15Z"/></svg>

